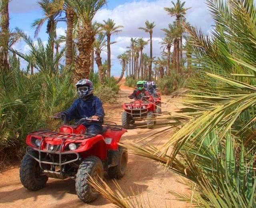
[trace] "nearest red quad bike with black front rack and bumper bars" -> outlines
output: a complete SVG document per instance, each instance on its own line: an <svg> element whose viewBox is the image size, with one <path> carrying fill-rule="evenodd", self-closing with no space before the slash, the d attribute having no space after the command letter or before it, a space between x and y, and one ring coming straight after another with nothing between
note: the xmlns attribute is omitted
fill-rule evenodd
<svg viewBox="0 0 256 208"><path fill-rule="evenodd" d="M104 124L102 135L85 134L81 119L76 126L66 125L58 132L40 129L26 137L26 154L20 165L20 180L28 190L39 190L50 178L72 178L76 194L83 202L92 202L98 193L89 184L90 176L103 178L104 171L111 178L121 178L127 166L128 154L118 145L127 132L115 123ZM94 120L96 121L96 120Z"/></svg>

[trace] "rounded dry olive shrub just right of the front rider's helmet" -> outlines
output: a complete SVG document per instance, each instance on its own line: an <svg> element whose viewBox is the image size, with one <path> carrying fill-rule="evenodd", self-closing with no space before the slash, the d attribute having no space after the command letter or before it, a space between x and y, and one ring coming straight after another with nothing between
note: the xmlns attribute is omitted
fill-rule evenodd
<svg viewBox="0 0 256 208"><path fill-rule="evenodd" d="M116 101L116 93L109 86L99 86L94 90L94 95L98 96L102 102L114 103Z"/></svg>

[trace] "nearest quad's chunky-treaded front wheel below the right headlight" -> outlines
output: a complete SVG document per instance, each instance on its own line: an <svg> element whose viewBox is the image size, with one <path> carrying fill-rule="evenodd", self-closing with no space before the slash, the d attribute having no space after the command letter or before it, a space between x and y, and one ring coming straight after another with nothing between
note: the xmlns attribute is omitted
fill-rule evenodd
<svg viewBox="0 0 256 208"><path fill-rule="evenodd" d="M102 161L96 156L86 158L79 166L76 174L76 194L83 202L92 202L98 198L99 193L88 183L89 176L100 181L104 169Z"/></svg>

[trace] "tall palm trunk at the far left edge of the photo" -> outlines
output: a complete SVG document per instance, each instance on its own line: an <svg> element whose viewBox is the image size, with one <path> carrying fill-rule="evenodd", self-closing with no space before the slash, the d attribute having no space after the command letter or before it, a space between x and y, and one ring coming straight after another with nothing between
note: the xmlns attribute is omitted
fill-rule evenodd
<svg viewBox="0 0 256 208"><path fill-rule="evenodd" d="M2 1L1 33L0 33L0 69L8 71L8 41L9 41L9 1Z"/></svg>

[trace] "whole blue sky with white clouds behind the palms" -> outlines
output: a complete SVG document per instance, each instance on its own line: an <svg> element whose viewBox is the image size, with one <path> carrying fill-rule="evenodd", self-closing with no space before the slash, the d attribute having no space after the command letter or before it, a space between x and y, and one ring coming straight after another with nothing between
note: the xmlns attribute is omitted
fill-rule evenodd
<svg viewBox="0 0 256 208"><path fill-rule="evenodd" d="M171 0L108 0L108 4L96 14L94 20L97 22L111 18L116 25L124 26L122 32L112 36L112 41L116 41L111 46L113 76L119 76L121 73L120 61L116 57L128 50L126 47L130 45L130 39L143 37L148 40L148 33L138 29L138 27L144 27L146 20L156 24L153 31L153 56L160 56L162 49L159 42L164 38L164 32L161 29L166 28L168 24L174 21L174 17L168 15L164 7L172 7ZM201 28L205 33L209 33L213 20L205 0L186 0L185 7L191 7L186 14L187 21L191 25ZM31 28L31 24L37 18L42 18L42 11L37 0L12 0L9 10L10 29L15 30L18 27L34 38L34 29ZM57 35L65 35L65 30L66 23L58 23ZM46 24L42 26L38 37L45 42L47 41ZM18 42L14 48L24 53L29 51L28 46L23 41ZM149 51L148 45L144 52L149 55ZM102 52L102 61L104 62L106 58L106 52ZM25 68L26 62L22 61L21 65ZM94 68L97 69L96 65Z"/></svg>

